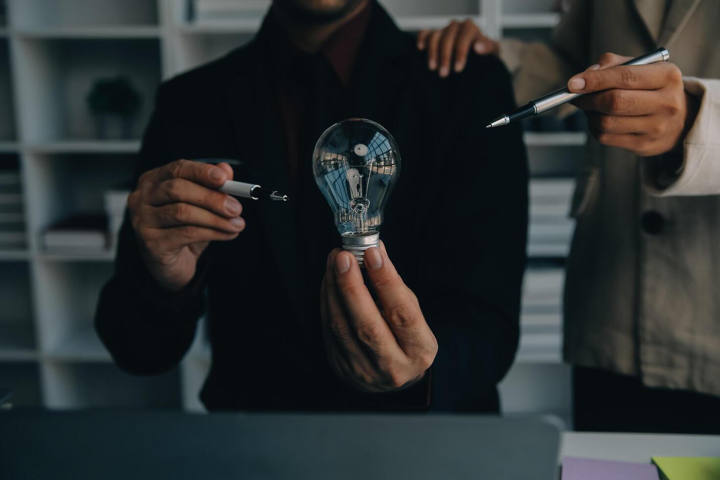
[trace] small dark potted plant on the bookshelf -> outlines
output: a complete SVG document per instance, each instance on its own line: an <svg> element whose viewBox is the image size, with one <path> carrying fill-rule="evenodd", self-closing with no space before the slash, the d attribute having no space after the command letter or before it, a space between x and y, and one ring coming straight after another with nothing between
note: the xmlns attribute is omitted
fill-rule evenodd
<svg viewBox="0 0 720 480"><path fill-rule="evenodd" d="M140 110L140 94L127 77L98 78L86 100L95 118L96 137L132 137L132 126Z"/></svg>

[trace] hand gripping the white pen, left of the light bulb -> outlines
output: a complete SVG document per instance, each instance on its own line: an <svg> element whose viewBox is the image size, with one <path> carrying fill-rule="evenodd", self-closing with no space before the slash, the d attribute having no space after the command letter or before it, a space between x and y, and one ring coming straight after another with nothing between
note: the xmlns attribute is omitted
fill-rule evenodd
<svg viewBox="0 0 720 480"><path fill-rule="evenodd" d="M243 207L219 191L233 179L228 163L176 160L143 173L127 199L145 265L169 291L192 280L212 240L233 240L245 228Z"/></svg>

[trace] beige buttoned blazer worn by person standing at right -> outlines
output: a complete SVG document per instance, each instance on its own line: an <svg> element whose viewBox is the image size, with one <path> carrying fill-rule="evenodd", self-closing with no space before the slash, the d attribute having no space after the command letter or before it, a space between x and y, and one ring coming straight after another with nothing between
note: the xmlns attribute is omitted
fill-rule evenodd
<svg viewBox="0 0 720 480"><path fill-rule="evenodd" d="M602 53L660 46L701 102L683 168L660 182L657 158L594 140L578 158L564 358L720 395L720 0L576 0L550 45L503 40L500 52L524 103Z"/></svg>

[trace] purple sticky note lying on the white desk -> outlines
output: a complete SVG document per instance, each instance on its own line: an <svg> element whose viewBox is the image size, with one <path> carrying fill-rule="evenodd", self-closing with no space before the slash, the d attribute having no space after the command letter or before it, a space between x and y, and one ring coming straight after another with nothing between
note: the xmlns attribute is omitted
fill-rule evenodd
<svg viewBox="0 0 720 480"><path fill-rule="evenodd" d="M565 457L562 480L659 480L659 477L657 467L650 463Z"/></svg>

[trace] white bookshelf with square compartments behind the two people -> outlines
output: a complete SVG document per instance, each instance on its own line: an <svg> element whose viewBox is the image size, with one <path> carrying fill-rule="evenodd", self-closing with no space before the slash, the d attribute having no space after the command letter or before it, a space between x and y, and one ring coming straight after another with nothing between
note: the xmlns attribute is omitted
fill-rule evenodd
<svg viewBox="0 0 720 480"><path fill-rule="evenodd" d="M0 1L8 14L0 24L0 159L19 163L22 192L11 195L22 202L27 240L22 248L0 249L0 384L15 390L18 406L202 410L198 391L210 368L204 330L176 371L150 378L122 373L92 325L114 252L46 250L41 233L68 214L102 206L105 189L130 179L164 78L248 42L261 17L189 22L189 0ZM559 21L551 0L380 1L409 31L469 18L499 37L505 29L548 29ZM130 78L142 107L129 139L98 140L85 97L96 78L116 74ZM545 165L572 155L585 134L528 133L525 139L531 163ZM552 163L549 171L566 175L566 165ZM549 295L557 296L557 307L562 269L552 274ZM559 312L523 310L523 330L536 336L523 335L522 368L559 366Z"/></svg>

